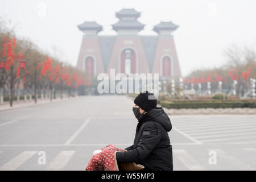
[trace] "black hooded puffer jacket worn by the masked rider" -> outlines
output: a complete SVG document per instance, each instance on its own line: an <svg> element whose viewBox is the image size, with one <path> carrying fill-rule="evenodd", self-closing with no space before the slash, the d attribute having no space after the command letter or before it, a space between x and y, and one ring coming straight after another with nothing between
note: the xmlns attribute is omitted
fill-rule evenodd
<svg viewBox="0 0 256 182"><path fill-rule="evenodd" d="M134 144L117 152L118 163L142 164L153 171L172 171L172 146L168 136L172 125L162 107L151 109L139 120Z"/></svg>

